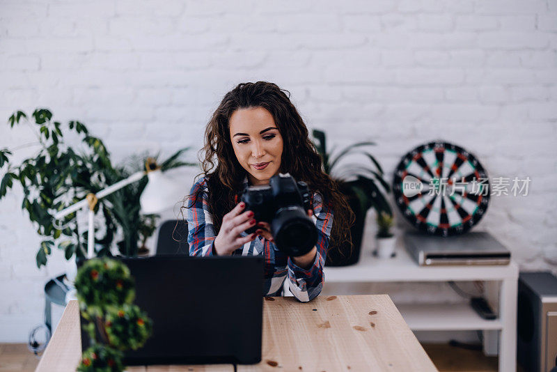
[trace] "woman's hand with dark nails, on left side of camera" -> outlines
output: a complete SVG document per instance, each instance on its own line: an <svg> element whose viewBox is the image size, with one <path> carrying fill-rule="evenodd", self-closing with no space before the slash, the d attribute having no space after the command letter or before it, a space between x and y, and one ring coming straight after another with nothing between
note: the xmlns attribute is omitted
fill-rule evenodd
<svg viewBox="0 0 557 372"><path fill-rule="evenodd" d="M213 242L213 248L217 251L218 256L230 255L246 242L251 242L256 238L256 233L240 236L240 233L256 224L256 220L253 219L253 212L247 210L242 213L244 208L246 208L246 204L242 201L224 215L219 234Z"/></svg>

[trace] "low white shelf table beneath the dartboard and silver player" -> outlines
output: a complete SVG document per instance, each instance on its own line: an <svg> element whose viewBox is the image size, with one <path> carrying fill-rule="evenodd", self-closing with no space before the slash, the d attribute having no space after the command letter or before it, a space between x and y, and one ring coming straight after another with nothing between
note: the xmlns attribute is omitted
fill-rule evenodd
<svg viewBox="0 0 557 372"><path fill-rule="evenodd" d="M398 304L397 307L413 331L482 330L484 350L488 354L496 352L499 339L499 371L516 371L519 274L516 263L420 267L407 254L402 238L397 242L397 256L391 259L375 258L369 246L370 241L364 240L360 261L356 265L325 268L325 283L487 281L490 284L487 286L487 300L499 313L496 320L480 318L468 304Z"/></svg>

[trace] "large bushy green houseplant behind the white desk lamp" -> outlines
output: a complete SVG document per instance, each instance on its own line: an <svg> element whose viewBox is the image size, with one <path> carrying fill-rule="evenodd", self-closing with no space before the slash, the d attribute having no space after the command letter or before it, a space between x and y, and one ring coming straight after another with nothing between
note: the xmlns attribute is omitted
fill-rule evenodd
<svg viewBox="0 0 557 372"><path fill-rule="evenodd" d="M127 178L134 171L145 169L147 156L134 159L134 164L114 166L106 146L89 133L86 125L79 121L62 125L53 120L52 112L48 109L36 109L31 116L17 111L10 116L8 123L10 127L27 125L37 137L37 141L32 144L0 148L0 170L4 173L0 182L0 200L14 183L22 186L22 209L29 212L29 219L36 224L38 234L43 237L36 255L37 266L40 268L46 265L48 255L56 246L65 252L66 259L74 254L77 258L84 258L87 233L79 231L77 212L58 222L54 221L54 214L84 199L90 192L97 193ZM65 141L65 137L70 135L77 137L80 145L78 149ZM37 146L38 153L20 164L10 161L15 150L29 146ZM192 165L180 159L186 150L182 148L162 162L162 171ZM140 213L139 198L146 184L147 177L97 203L95 220L104 226L104 236L95 239L97 256L111 255L110 247L118 231L121 231L123 238L116 244L124 256L136 255L140 238L144 244L148 235L153 233L155 229L152 226L157 215Z"/></svg>

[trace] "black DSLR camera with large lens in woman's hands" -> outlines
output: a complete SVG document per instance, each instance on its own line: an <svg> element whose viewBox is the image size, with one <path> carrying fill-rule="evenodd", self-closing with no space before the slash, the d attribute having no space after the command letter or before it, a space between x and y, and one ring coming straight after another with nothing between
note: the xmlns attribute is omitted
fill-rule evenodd
<svg viewBox="0 0 557 372"><path fill-rule="evenodd" d="M241 200L256 221L271 225L276 247L288 256L302 256L315 246L317 228L306 212L312 206L305 182L296 182L290 173L278 173L269 185L246 187ZM255 231L254 226L246 233Z"/></svg>

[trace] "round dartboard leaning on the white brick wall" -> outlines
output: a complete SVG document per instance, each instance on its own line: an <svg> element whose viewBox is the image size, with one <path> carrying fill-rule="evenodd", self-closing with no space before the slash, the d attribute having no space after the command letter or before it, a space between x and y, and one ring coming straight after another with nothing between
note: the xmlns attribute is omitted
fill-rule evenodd
<svg viewBox="0 0 557 372"><path fill-rule="evenodd" d="M402 215L419 230L457 235L485 214L489 180L468 151L442 141L431 142L402 157L395 169L393 194Z"/></svg>

